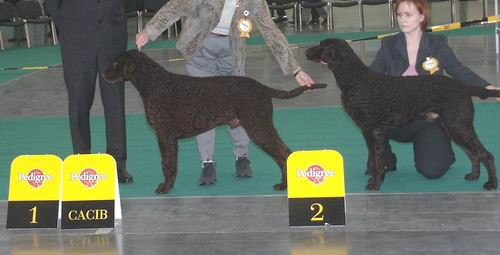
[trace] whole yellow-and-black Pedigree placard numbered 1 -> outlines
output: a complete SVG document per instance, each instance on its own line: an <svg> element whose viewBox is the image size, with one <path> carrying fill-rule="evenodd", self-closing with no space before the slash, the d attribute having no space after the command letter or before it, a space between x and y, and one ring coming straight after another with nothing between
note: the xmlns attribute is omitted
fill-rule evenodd
<svg viewBox="0 0 500 255"><path fill-rule="evenodd" d="M62 161L24 155L11 165L7 228L57 228Z"/></svg>

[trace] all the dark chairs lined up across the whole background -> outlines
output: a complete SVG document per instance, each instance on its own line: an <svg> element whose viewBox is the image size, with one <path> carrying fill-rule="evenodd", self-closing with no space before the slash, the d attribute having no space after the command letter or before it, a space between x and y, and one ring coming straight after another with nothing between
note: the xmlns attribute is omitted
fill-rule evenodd
<svg viewBox="0 0 500 255"><path fill-rule="evenodd" d="M84 0L82 0L84 1ZM123 0L125 12L128 18L137 19L137 31L141 32L144 28L144 18L151 18L154 14L169 0ZM450 2L450 22L456 21L456 2L459 0L429 0L430 2ZM476 0L460 0L460 1L476 1ZM479 0L483 3L483 17L487 17L487 0ZM327 30L333 30L333 15L334 8L344 8L357 6L359 28L365 28L364 21L364 6L370 5L387 5L389 24L391 28L395 27L395 0L270 0L268 1L271 10L289 10L293 9L293 13L298 18L294 17L295 30L302 31L302 12L303 9L325 8L326 7L326 25ZM15 3L15 4L14 4ZM37 0L0 0L0 27L13 27L14 29L24 27L28 48L31 47L31 38L28 29L29 24L44 24L50 26L52 31L52 41L57 45L57 33L53 20L45 15L42 4ZM46 31L47 26L44 26ZM167 30L167 37L171 37L171 31L175 32L178 37L180 30L180 21L178 21L173 29ZM46 39L46 32L44 38ZM19 40L18 40L19 45ZM0 30L0 47L4 49L2 31Z"/></svg>

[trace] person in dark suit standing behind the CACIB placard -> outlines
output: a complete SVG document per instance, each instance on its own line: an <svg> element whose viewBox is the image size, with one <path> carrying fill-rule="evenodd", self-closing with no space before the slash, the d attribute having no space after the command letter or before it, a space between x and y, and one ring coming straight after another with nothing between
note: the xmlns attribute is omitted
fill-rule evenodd
<svg viewBox="0 0 500 255"><path fill-rule="evenodd" d="M96 77L127 48L123 0L45 0L59 30L64 80L68 89L69 122L74 153L90 153L89 112ZM123 83L110 84L99 75L106 121L106 152L117 163L118 181L130 183L126 171Z"/></svg>

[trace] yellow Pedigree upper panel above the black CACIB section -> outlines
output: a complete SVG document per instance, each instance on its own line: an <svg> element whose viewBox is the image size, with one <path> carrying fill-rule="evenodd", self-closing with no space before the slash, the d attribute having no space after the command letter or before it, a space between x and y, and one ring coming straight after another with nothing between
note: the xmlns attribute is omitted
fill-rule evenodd
<svg viewBox="0 0 500 255"><path fill-rule="evenodd" d="M68 156L62 178L63 201L115 199L116 162L108 154Z"/></svg>

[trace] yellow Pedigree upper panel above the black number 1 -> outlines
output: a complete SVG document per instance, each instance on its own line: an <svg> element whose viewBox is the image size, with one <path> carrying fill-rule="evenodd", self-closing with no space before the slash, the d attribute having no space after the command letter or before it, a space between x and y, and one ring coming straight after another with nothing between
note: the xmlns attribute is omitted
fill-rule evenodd
<svg viewBox="0 0 500 255"><path fill-rule="evenodd" d="M12 161L9 201L59 200L61 159L55 155L22 155Z"/></svg>

